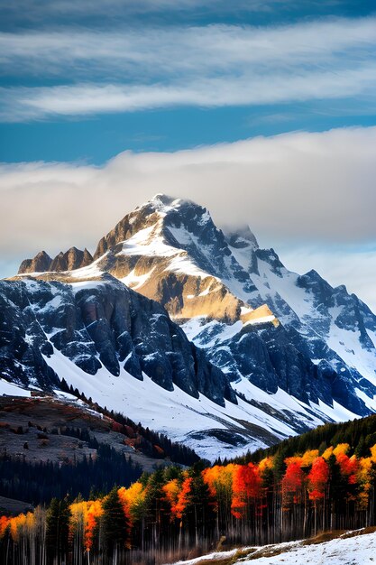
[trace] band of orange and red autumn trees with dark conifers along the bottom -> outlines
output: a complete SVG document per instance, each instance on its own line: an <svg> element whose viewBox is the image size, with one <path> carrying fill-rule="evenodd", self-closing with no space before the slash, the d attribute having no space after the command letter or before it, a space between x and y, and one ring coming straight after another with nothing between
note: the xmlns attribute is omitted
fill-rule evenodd
<svg viewBox="0 0 376 565"><path fill-rule="evenodd" d="M376 443L337 443L257 462L158 469L105 496L53 499L0 518L0 559L41 565L149 563L375 523Z"/></svg>

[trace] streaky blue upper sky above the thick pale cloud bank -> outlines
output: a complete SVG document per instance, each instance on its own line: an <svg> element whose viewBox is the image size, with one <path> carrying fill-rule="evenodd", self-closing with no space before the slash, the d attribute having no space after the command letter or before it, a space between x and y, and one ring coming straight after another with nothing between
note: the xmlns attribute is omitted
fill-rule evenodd
<svg viewBox="0 0 376 565"><path fill-rule="evenodd" d="M374 2L4 3L0 158L375 124ZM372 78L373 73L373 78Z"/></svg>

